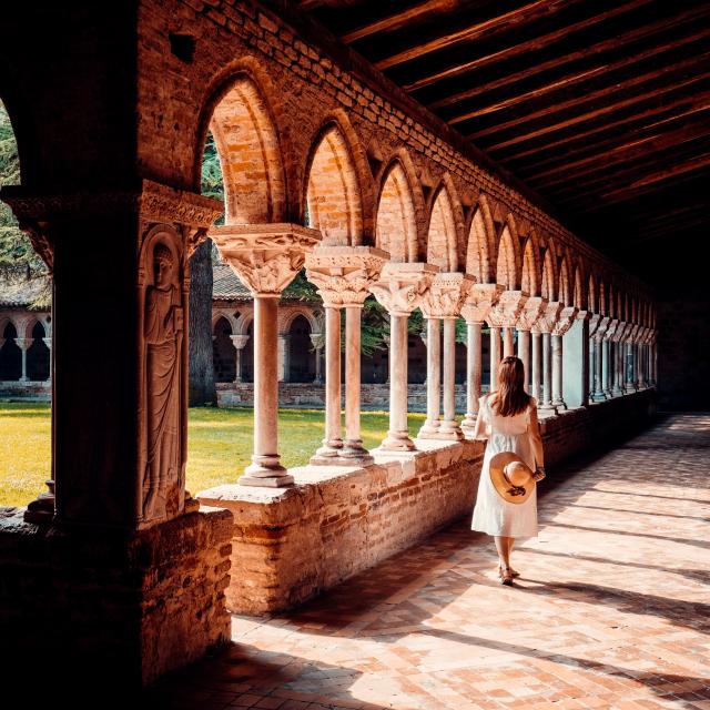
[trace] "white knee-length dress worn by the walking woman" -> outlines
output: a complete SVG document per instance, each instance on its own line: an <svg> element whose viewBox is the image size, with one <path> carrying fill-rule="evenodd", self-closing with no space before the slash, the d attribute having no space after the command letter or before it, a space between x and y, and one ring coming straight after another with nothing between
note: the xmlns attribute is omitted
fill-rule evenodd
<svg viewBox="0 0 710 710"><path fill-rule="evenodd" d="M537 407L535 398L528 407L513 417L499 417L488 406L488 395L479 400L478 416L489 425L490 435L484 453L478 481L478 495L474 506L471 530L527 539L537 537L537 486L525 503L504 500L490 483L489 463L500 452L517 454L535 470L535 454L530 442L530 407Z"/></svg>

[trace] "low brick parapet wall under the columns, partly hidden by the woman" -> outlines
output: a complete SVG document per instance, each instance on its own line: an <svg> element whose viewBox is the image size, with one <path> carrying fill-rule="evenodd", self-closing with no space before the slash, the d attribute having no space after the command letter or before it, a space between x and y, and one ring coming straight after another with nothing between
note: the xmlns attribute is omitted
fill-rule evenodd
<svg viewBox="0 0 710 710"><path fill-rule="evenodd" d="M546 465L607 446L645 426L655 390L541 419ZM484 444L417 442L424 450L373 452L366 468L291 469L295 485L222 485L197 495L234 515L227 608L287 609L473 513Z"/></svg>

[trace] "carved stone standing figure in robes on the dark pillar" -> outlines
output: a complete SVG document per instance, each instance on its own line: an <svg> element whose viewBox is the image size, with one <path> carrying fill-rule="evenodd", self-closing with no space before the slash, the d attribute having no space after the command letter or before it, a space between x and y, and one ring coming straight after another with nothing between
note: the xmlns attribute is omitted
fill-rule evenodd
<svg viewBox="0 0 710 710"><path fill-rule="evenodd" d="M174 513L180 493L180 396L183 337L175 257L168 246L153 251L153 284L145 294L148 452L143 477L143 519Z"/></svg>

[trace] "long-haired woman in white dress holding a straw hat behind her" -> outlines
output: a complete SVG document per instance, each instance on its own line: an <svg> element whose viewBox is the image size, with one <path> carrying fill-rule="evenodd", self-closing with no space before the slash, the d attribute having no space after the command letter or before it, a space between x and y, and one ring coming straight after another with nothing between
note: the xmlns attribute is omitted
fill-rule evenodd
<svg viewBox="0 0 710 710"><path fill-rule="evenodd" d="M473 530L493 535L498 574L513 585L515 538L537 537L536 481L545 477L537 400L525 390L525 368L518 357L504 357L498 388L479 400L474 437L488 439L478 481Z"/></svg>

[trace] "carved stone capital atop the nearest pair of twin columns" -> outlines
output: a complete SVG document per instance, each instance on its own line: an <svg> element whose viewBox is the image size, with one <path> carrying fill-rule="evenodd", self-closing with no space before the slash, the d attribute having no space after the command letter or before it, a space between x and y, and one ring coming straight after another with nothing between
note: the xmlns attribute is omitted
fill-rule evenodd
<svg viewBox="0 0 710 710"><path fill-rule="evenodd" d="M316 246L306 254L306 276L327 307L362 305L389 258L374 246Z"/></svg>

